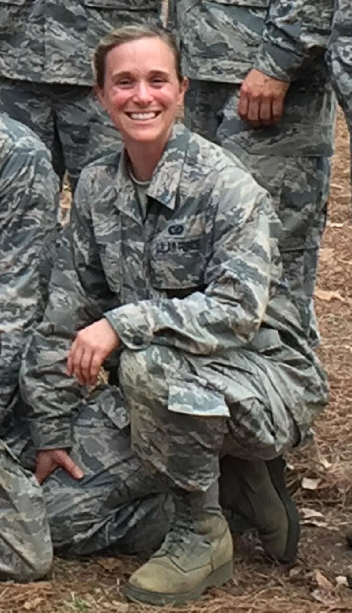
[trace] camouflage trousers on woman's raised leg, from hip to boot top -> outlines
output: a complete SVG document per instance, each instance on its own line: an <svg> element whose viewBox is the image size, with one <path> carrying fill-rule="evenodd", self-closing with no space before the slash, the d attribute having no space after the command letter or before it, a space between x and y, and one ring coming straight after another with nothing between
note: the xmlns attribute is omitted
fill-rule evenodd
<svg viewBox="0 0 352 613"><path fill-rule="evenodd" d="M197 374L175 349L125 349L120 384L132 449L171 487L205 491L219 476L220 455L270 459L299 440L290 411L264 371L254 364L246 370L240 355L233 366L205 359ZM295 376L292 384L296 394Z"/></svg>

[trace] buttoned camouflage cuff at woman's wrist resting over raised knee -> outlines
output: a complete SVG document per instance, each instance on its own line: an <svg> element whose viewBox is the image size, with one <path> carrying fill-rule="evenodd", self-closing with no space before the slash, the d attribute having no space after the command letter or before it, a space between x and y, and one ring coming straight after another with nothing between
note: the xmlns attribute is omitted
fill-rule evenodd
<svg viewBox="0 0 352 613"><path fill-rule="evenodd" d="M104 313L121 343L132 351L147 349L154 335L154 318L146 303L128 304Z"/></svg>

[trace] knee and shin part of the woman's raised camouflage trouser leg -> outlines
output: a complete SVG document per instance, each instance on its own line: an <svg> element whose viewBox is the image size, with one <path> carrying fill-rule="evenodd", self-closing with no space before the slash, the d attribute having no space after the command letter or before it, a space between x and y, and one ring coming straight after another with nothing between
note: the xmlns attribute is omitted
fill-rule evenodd
<svg viewBox="0 0 352 613"><path fill-rule="evenodd" d="M197 407L215 402L210 390L189 384L191 369L169 348L124 352L120 384L131 414L132 449L167 483L206 490L218 477L225 419ZM185 375L187 381L183 381Z"/></svg>

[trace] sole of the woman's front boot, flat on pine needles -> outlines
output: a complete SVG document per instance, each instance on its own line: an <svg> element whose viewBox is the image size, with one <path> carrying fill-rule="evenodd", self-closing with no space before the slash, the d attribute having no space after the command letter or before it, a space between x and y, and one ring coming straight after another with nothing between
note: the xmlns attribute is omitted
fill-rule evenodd
<svg viewBox="0 0 352 613"><path fill-rule="evenodd" d="M209 587L221 587L221 585L224 585L224 583L232 579L233 572L234 563L233 560L229 560L229 562L216 568L213 573L205 577L204 581L196 585L190 592L183 592L180 594L148 592L148 590L143 590L140 587L126 583L123 588L123 593L128 600L134 603L154 604L155 606L163 606L165 604L180 606L188 603L190 600L196 600Z"/></svg>

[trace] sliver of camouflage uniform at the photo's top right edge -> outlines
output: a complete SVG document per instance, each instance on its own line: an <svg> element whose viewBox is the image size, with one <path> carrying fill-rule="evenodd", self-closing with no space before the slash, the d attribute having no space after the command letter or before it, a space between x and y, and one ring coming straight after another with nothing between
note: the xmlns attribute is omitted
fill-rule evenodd
<svg viewBox="0 0 352 613"><path fill-rule="evenodd" d="M350 131L352 147L352 5L348 0L335 0L328 58L335 92Z"/></svg>

